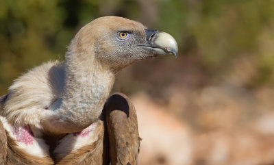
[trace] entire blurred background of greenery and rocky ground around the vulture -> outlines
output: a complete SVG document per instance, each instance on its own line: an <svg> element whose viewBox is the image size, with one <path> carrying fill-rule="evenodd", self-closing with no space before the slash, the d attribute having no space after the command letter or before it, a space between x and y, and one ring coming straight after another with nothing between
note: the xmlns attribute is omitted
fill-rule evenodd
<svg viewBox="0 0 274 165"><path fill-rule="evenodd" d="M63 60L99 16L171 34L179 57L138 62L113 92L136 106L139 164L274 164L273 0L0 1L0 94L28 69Z"/></svg>

